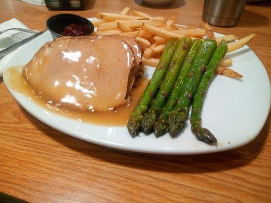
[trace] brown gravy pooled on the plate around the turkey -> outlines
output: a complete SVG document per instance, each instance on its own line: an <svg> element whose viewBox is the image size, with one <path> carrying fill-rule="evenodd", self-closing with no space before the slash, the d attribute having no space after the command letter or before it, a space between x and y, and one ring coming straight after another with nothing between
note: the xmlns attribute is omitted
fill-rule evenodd
<svg viewBox="0 0 271 203"><path fill-rule="evenodd" d="M27 84L22 75L23 65L10 67L5 74L8 85L18 93L33 100L36 104L42 108L62 115L68 118L76 119L80 122L93 123L106 126L126 126L128 119L133 111L133 108L137 105L141 95L147 86L148 79L141 77L135 84L136 88L132 90L130 104L118 108L116 111L108 112L87 112L79 110L71 110L64 107L57 107L52 105L48 100L42 98L35 90Z"/></svg>

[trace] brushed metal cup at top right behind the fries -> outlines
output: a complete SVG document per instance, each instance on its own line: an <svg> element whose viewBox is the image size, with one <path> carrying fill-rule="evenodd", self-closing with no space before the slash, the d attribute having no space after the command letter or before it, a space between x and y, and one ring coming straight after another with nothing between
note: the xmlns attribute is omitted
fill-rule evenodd
<svg viewBox="0 0 271 203"><path fill-rule="evenodd" d="M240 19L247 0L205 0L202 20L209 24L228 27Z"/></svg>

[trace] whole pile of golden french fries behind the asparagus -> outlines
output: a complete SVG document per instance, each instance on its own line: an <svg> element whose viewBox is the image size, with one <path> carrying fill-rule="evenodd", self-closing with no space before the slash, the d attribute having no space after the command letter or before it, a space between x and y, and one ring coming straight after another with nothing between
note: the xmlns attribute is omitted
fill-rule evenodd
<svg viewBox="0 0 271 203"><path fill-rule="evenodd" d="M99 20L92 21L97 31L93 35L121 35L135 39L143 49L142 63L156 67L159 59L164 51L166 43L172 37L182 38L190 36L192 39L209 38L214 39L219 44L222 39L228 44L228 52L235 51L246 45L255 34L235 41L236 35L226 35L223 37L215 37L212 28L205 23L202 28L189 27L175 24L176 17L172 16L168 20L164 17L154 17L140 11L132 11L126 7L121 13L103 13L99 12L97 18ZM232 59L224 58L216 74L242 78L243 76L228 67L232 64Z"/></svg>

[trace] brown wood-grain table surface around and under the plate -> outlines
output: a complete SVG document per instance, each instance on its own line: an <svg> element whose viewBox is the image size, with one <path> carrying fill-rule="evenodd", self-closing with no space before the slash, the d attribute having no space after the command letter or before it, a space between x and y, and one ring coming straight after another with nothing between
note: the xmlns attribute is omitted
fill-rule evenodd
<svg viewBox="0 0 271 203"><path fill-rule="evenodd" d="M203 23L203 1L175 1L162 8L137 3L97 0L84 11L48 11L6 0L0 1L0 23L17 18L43 30L45 20L57 13L93 17L125 6L154 16L174 15L179 24ZM214 27L239 37L256 33L249 46L269 78L270 7L270 1L247 5L235 27ZM0 192L30 202L271 202L270 114L259 136L244 147L205 155L149 155L97 146L45 125L18 105L3 79L0 95Z"/></svg>

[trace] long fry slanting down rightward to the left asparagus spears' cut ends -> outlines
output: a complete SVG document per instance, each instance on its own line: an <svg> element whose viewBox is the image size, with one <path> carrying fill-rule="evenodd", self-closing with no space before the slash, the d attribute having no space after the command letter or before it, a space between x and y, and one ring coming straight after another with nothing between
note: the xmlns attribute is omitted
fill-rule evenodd
<svg viewBox="0 0 271 203"><path fill-rule="evenodd" d="M142 28L152 33L153 35L159 36L161 38L170 39L170 38L182 38L184 35L179 35L178 33L174 33L165 29L160 29L158 27L155 27L153 25L149 25L146 23L143 23Z"/></svg>

